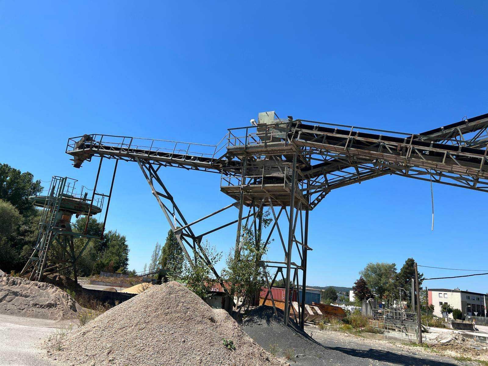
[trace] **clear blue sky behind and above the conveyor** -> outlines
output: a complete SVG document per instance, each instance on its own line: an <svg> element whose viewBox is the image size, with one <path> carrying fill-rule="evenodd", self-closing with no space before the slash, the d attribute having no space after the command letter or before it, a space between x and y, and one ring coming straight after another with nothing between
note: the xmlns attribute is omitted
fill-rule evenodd
<svg viewBox="0 0 488 366"><path fill-rule="evenodd" d="M0 162L92 186L97 164L73 168L68 137L216 143L267 110L416 133L487 113L487 10L485 1L1 1ZM127 236L130 268L141 270L168 225L138 169L119 164L107 225ZM219 178L163 172L189 221L230 203ZM438 184L434 199L432 232L426 182L386 176L330 193L310 215L308 284L350 286L367 262L400 267L408 257L488 269L488 194ZM235 228L209 240L226 252ZM426 284L488 291L486 276Z"/></svg>

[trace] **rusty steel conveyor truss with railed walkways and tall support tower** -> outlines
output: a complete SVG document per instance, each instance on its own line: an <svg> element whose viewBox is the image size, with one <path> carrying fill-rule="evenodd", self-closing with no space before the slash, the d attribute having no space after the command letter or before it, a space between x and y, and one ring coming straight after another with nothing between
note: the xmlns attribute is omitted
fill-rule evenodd
<svg viewBox="0 0 488 366"><path fill-rule="evenodd" d="M305 291L297 307L290 306L290 299L299 286L300 271L300 285L306 284L307 252L312 250L309 211L333 189L387 174L488 191L487 128L488 114L407 134L291 116L279 119L274 112L263 112L250 126L228 129L216 145L92 134L70 138L66 152L75 167L93 157L138 163L190 263L198 256L213 268L202 239L232 224L237 224L236 252L242 247L243 226L264 246L276 238L284 260L260 265L275 272L266 279L269 289L281 274L286 285L285 314L303 326ZM221 191L234 202L188 222L161 179L161 167L166 166L220 174ZM231 207L238 210L235 220L203 233L192 229ZM272 219L267 231L262 223L264 210ZM292 262L292 252L298 254L299 263ZM270 291L268 295L274 304Z"/></svg>

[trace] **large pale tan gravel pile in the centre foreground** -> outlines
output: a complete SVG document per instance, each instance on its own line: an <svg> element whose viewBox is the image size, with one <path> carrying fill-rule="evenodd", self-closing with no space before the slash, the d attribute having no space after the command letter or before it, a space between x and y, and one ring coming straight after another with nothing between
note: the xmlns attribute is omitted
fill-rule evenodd
<svg viewBox="0 0 488 366"><path fill-rule="evenodd" d="M152 286L60 342L48 343L48 354L66 365L285 365L224 310L212 309L176 282Z"/></svg>

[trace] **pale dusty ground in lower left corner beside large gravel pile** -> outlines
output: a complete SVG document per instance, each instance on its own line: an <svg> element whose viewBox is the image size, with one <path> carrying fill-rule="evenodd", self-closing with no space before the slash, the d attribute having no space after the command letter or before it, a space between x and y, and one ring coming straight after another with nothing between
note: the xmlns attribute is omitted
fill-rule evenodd
<svg viewBox="0 0 488 366"><path fill-rule="evenodd" d="M42 342L66 324L0 314L0 366L56 366L42 356Z"/></svg>

